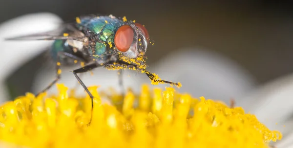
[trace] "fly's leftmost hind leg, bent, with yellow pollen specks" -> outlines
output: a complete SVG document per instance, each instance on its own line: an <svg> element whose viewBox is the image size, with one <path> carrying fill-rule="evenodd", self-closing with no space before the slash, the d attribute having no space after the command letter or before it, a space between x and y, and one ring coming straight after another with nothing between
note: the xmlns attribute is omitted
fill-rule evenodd
<svg viewBox="0 0 293 148"><path fill-rule="evenodd" d="M74 56L74 55L71 55L69 53L58 52L58 54L57 54L57 63L56 63L56 78L45 89L43 89L41 92L37 93L36 96L38 96L42 92L48 91L60 79L61 73L62 73L62 71L60 69L60 66L61 66L60 58L61 58L61 56L66 56L66 57L71 58L71 59L84 61L82 58Z"/></svg>

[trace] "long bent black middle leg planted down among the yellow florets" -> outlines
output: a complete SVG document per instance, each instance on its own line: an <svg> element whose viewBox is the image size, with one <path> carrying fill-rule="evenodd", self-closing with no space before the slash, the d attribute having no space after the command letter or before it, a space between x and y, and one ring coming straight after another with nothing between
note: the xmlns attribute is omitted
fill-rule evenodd
<svg viewBox="0 0 293 148"><path fill-rule="evenodd" d="M86 66L84 66L82 68L76 69L76 70L74 70L72 72L74 74L74 76L76 77L76 79L78 80L78 82L83 86L85 92L91 98L91 114L90 114L90 120L89 120L87 126L89 126L91 124L91 120L92 120L92 116L93 116L93 108L94 108L93 99L94 99L94 96L89 92L87 87L84 85L84 82L80 79L80 77L77 74L88 72L88 71L90 71L90 70L92 70L94 68L100 67L100 66L101 65L98 64L98 63L93 63L93 64L86 65Z"/></svg>

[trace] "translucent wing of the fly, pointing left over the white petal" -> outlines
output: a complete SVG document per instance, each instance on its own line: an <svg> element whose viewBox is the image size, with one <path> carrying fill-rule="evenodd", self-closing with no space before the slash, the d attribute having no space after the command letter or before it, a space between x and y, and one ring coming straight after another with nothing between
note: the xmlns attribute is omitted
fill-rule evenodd
<svg viewBox="0 0 293 148"><path fill-rule="evenodd" d="M63 34L62 34L63 33ZM61 35L62 34L62 35ZM77 30L73 24L63 24L60 28L48 32L19 36L8 37L5 40L57 40L57 39L71 39L84 41L84 34Z"/></svg>

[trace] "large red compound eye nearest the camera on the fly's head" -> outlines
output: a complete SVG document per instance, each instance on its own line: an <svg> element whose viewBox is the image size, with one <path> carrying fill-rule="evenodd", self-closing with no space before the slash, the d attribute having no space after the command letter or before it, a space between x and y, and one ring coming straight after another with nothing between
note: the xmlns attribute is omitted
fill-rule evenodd
<svg viewBox="0 0 293 148"><path fill-rule="evenodd" d="M114 44L121 52L127 52L134 37L133 29L129 25L121 26L114 37Z"/></svg>

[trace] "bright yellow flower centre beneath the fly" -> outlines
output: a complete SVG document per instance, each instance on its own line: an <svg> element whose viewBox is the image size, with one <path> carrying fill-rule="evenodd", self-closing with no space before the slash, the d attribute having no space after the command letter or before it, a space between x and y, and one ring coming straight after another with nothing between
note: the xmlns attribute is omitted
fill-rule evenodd
<svg viewBox="0 0 293 148"><path fill-rule="evenodd" d="M281 139L254 115L204 97L150 90L125 96L97 92L92 123L91 99L58 84L59 93L31 93L0 107L0 140L32 148L268 148ZM102 98L111 102L103 104Z"/></svg>

